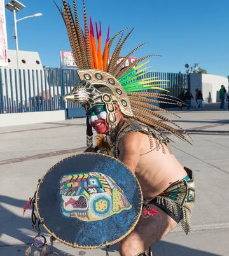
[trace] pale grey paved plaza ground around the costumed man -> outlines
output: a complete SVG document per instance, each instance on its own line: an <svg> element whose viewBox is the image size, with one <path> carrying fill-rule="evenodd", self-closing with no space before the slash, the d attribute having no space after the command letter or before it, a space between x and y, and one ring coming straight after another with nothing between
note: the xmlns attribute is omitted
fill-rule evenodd
<svg viewBox="0 0 229 256"><path fill-rule="evenodd" d="M178 113L177 110L174 110ZM205 111L179 111L176 118L193 138L193 146L175 139L174 154L193 169L197 197L193 229L177 227L153 246L154 256L229 255L229 111L209 105ZM31 243L30 211L22 207L37 181L55 162L85 146L85 119L0 128L0 255L21 256ZM60 255L106 255L55 242ZM109 255L119 255L117 246Z"/></svg>

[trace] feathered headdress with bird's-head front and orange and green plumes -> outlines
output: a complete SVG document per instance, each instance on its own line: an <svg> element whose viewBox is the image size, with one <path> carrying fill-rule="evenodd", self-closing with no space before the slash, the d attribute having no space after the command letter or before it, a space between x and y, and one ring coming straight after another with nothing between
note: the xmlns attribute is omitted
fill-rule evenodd
<svg viewBox="0 0 229 256"><path fill-rule="evenodd" d="M55 3L55 2L54 2ZM131 29L125 35L127 29L122 29L113 37L109 38L109 27L106 35L106 43L102 52L102 29L101 22L99 26L95 22L90 25L87 23L87 12L83 0L83 23L84 30L80 26L76 1L73 0L74 11L65 0L62 0L63 10L57 6L66 24L67 34L71 48L73 50L74 59L78 66L78 75L81 82L76 86L70 94L64 96L66 101L73 101L83 104L85 110L92 108L95 104L105 104L108 111L108 124L111 130L116 126L116 115L114 113L114 103L120 105L120 110L125 117L132 117L144 124L155 127L156 129L170 132L184 141L187 141L184 134L186 132L170 118L165 117L159 111L170 113L163 110L152 103L177 104L179 99L167 94L155 92L147 92L148 89L165 90L160 86L165 80L160 80L158 77L149 76L142 78L143 75L150 75L150 71L145 65L148 61L139 64L142 60L158 55L147 55L135 60L129 66L124 66L128 57L136 50L141 48L144 43L136 46L118 63L121 48L132 33ZM57 4L56 4L57 5ZM95 39L95 31L96 38ZM111 46L114 39L118 39L118 43L114 46L111 59L109 59ZM123 68L124 66L124 68ZM106 87L108 90L101 90L101 87ZM165 90L166 91L166 90ZM173 113L170 113L174 115ZM165 122L162 122L165 121ZM169 124L166 124L168 122ZM172 126L172 125L174 126ZM177 130L179 128L179 130ZM87 141L88 146L92 146L92 131L87 129L87 135L90 137ZM88 137L88 138L89 138Z"/></svg>

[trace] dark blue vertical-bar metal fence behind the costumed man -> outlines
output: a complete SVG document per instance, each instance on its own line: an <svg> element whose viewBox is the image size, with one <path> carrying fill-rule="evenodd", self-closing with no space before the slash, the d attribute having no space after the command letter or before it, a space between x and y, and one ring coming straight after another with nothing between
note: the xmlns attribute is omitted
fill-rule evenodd
<svg viewBox="0 0 229 256"><path fill-rule="evenodd" d="M182 73L147 73L160 82L169 94L178 97L188 88L188 75ZM81 104L65 103L62 96L78 85L75 69L44 68L0 69L0 114L81 109ZM150 90L149 90L150 91Z"/></svg>

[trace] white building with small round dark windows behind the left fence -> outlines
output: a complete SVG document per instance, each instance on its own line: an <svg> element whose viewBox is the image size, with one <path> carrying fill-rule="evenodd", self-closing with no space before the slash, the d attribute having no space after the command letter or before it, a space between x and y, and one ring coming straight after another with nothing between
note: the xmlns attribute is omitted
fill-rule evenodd
<svg viewBox="0 0 229 256"><path fill-rule="evenodd" d="M17 71L17 55L15 50L8 50L8 66L6 68L1 68L3 96L6 97L6 99L9 99L11 105L12 99L16 101L17 96L17 102L20 106L25 106L25 103L29 106L29 99L41 96L42 91L44 97L46 96L47 99L51 99L53 97L53 87L49 88L47 77L45 79L39 53L18 51L18 56L21 80L18 77L19 73ZM17 87L15 82L16 77ZM22 85L21 87L20 84ZM45 89L47 90L47 94L45 94ZM57 94L57 89L55 90L55 94ZM13 108L13 106L11 106L11 108Z"/></svg>

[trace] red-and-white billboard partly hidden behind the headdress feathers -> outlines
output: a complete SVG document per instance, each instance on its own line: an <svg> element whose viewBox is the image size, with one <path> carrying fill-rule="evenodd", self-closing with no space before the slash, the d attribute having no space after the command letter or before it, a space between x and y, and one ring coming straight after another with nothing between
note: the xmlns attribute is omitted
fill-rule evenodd
<svg viewBox="0 0 229 256"><path fill-rule="evenodd" d="M117 64L120 63L123 58L124 56L120 56L117 61ZM109 56L109 59L111 59L111 55ZM128 59L125 61L125 64L123 65L123 68L132 64L134 60L137 60L137 58L128 57ZM73 52L60 51L60 66L61 68L77 68L76 62L74 61Z"/></svg>

